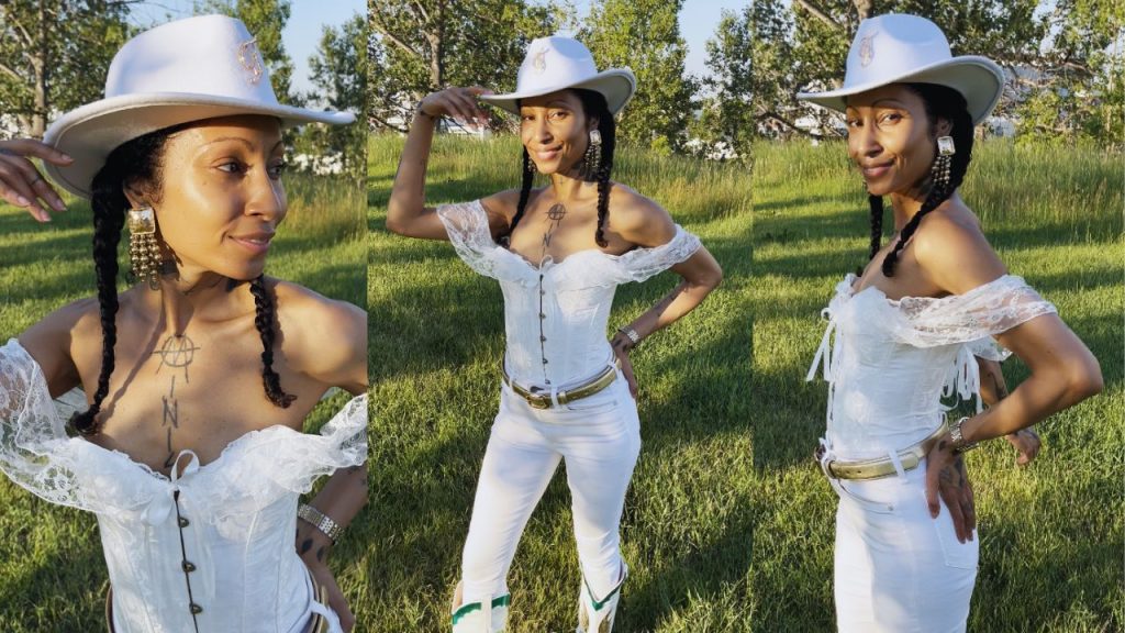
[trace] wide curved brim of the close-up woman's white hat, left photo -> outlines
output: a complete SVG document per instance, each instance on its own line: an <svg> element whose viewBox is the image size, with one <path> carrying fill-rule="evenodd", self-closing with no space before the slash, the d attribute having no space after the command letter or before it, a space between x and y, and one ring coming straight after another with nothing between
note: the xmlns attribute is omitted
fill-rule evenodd
<svg viewBox="0 0 1125 633"><path fill-rule="evenodd" d="M112 97L71 110L51 125L43 141L74 160L68 166L45 163L44 169L68 191L89 198L94 175L110 152L123 143L173 125L246 114L274 116L282 127L303 123L341 125L356 121L351 113L317 112L208 95L159 92Z"/></svg>

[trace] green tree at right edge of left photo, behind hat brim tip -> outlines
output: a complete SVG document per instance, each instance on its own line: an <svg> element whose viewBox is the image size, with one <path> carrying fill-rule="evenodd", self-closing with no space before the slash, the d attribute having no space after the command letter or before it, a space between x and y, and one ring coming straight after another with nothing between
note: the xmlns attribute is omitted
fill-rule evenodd
<svg viewBox="0 0 1125 633"><path fill-rule="evenodd" d="M343 171L361 180L367 170L363 160L367 130L362 123L367 106L367 23L356 14L335 28L325 26L316 53L308 59L310 80L317 88L306 102L356 114L352 125L308 125L297 145L308 145L316 153L339 153Z"/></svg>

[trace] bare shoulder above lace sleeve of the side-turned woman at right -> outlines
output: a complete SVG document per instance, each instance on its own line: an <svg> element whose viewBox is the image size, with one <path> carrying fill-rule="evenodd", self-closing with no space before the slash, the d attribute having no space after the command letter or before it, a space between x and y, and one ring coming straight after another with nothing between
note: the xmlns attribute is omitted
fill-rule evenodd
<svg viewBox="0 0 1125 633"><path fill-rule="evenodd" d="M951 294L964 294L1007 271L976 216L960 198L922 217L912 243L924 274Z"/></svg>

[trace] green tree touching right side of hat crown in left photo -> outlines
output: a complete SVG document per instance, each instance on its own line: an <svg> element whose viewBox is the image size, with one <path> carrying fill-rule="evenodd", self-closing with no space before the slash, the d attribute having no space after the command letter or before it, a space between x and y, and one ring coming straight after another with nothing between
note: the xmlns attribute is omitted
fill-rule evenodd
<svg viewBox="0 0 1125 633"><path fill-rule="evenodd" d="M262 61L270 71L270 83L278 100L299 104L300 96L290 93L292 60L285 50L281 32L289 21L289 0L205 0L197 2L196 14L223 14L238 18L258 42Z"/></svg>

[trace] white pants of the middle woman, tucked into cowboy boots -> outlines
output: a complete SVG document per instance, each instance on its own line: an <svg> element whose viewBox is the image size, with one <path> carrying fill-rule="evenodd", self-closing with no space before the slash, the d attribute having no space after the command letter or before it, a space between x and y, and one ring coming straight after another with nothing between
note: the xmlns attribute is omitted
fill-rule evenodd
<svg viewBox="0 0 1125 633"><path fill-rule="evenodd" d="M551 409L532 409L503 387L465 541L465 603L508 592L520 536L564 460L583 574L595 595L612 590L622 569L621 511L639 452L637 403L620 371L604 390Z"/></svg>

